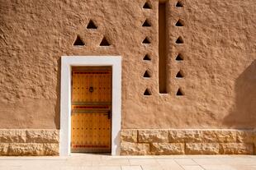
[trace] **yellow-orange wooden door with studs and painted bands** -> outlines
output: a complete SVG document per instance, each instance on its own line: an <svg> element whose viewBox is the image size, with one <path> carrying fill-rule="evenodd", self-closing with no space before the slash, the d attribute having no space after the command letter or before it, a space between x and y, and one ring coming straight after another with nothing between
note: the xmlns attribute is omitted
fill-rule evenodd
<svg viewBox="0 0 256 170"><path fill-rule="evenodd" d="M73 67L72 152L111 151L111 67Z"/></svg>

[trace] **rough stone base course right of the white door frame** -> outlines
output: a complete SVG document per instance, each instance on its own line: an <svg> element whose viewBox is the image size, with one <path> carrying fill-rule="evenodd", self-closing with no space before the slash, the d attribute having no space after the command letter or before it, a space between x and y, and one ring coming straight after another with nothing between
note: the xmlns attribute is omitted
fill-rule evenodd
<svg viewBox="0 0 256 170"><path fill-rule="evenodd" d="M256 154L255 147L255 130L121 131L122 155Z"/></svg>

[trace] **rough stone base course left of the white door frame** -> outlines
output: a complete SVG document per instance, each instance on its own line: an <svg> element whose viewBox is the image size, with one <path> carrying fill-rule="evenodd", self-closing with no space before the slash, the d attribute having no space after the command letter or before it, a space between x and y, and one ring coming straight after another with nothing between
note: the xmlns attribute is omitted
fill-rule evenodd
<svg viewBox="0 0 256 170"><path fill-rule="evenodd" d="M59 155L59 130L1 129L0 155Z"/></svg>

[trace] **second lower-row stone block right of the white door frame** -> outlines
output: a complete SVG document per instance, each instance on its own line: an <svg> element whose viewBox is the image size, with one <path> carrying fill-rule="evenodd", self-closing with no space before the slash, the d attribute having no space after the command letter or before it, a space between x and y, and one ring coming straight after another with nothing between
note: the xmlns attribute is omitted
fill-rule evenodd
<svg viewBox="0 0 256 170"><path fill-rule="evenodd" d="M185 154L182 143L152 143L151 154Z"/></svg>

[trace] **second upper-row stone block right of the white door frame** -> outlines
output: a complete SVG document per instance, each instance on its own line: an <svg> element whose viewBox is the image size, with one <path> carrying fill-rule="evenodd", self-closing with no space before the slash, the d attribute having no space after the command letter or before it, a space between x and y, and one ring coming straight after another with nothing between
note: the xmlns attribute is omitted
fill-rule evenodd
<svg viewBox="0 0 256 170"><path fill-rule="evenodd" d="M168 130L139 130L138 141L142 143L168 142Z"/></svg>

